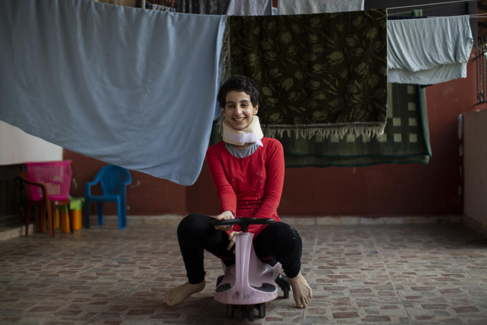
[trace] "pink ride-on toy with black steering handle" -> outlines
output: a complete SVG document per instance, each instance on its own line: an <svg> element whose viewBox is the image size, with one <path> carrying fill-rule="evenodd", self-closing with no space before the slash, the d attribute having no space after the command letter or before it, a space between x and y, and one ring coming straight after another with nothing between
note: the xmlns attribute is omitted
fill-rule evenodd
<svg viewBox="0 0 487 325"><path fill-rule="evenodd" d="M226 267L224 275L218 277L215 288L215 300L226 304L227 316L231 318L237 311L237 319L242 320L247 314L249 321L254 320L254 308L259 310L259 317L265 316L265 303L277 298L277 285L284 291L284 298L289 297L291 286L287 277L280 274L281 263L274 266L263 263L254 252L253 235L248 232L249 224L269 224L274 219L236 218L231 220L212 220L212 225L238 224L242 233L235 236L235 264Z"/></svg>

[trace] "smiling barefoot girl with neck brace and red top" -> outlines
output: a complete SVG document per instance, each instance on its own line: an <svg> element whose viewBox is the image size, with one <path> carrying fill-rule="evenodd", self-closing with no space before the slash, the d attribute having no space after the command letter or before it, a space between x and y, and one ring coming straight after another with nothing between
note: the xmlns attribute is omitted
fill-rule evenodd
<svg viewBox="0 0 487 325"><path fill-rule="evenodd" d="M220 87L223 141L211 146L206 161L220 202L220 214L186 216L178 226L178 241L188 282L172 288L164 296L167 305L176 305L203 290L203 250L234 263L233 246L240 226L212 226L218 220L238 217L273 218L269 225L249 225L254 234L254 250L262 260L275 259L283 265L297 308L305 308L312 290L301 274L302 241L291 226L281 222L277 206L284 182L284 154L281 143L263 138L258 111L259 92L245 76L231 76Z"/></svg>

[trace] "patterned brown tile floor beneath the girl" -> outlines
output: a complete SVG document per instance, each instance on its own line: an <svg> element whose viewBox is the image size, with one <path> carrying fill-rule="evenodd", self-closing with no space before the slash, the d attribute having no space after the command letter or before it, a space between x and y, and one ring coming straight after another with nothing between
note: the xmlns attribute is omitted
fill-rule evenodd
<svg viewBox="0 0 487 325"><path fill-rule="evenodd" d="M267 303L255 324L487 324L487 241L461 224L295 225L314 290L300 310ZM105 225L0 242L0 324L232 324L207 285L168 307L185 281L176 225ZM291 293L292 297L292 293Z"/></svg>

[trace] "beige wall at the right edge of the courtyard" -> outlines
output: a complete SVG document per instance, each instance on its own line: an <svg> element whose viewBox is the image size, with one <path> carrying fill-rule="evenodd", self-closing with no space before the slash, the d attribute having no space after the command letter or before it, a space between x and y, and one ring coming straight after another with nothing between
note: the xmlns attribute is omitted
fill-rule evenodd
<svg viewBox="0 0 487 325"><path fill-rule="evenodd" d="M487 229L487 109L464 115L464 211Z"/></svg>

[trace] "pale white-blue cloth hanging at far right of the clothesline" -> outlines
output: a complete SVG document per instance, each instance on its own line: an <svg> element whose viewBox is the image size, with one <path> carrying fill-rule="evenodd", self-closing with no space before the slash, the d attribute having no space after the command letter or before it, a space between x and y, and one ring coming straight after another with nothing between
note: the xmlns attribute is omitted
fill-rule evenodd
<svg viewBox="0 0 487 325"><path fill-rule="evenodd" d="M435 84L467 76L469 17L388 20L388 82Z"/></svg>

